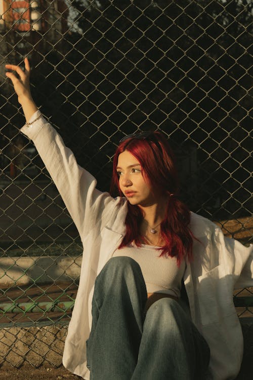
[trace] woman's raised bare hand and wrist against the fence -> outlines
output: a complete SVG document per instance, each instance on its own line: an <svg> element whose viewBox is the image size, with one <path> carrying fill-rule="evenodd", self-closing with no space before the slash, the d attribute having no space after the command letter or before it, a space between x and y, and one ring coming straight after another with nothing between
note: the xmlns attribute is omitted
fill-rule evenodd
<svg viewBox="0 0 253 380"><path fill-rule="evenodd" d="M18 95L18 101L23 107L26 121L28 122L33 113L38 109L32 99L30 91L30 65L27 58L25 62L25 71L21 67L16 65L7 64L5 67L8 70L13 70L18 74L18 77L14 72L6 72L6 76L11 79L14 90Z"/></svg>

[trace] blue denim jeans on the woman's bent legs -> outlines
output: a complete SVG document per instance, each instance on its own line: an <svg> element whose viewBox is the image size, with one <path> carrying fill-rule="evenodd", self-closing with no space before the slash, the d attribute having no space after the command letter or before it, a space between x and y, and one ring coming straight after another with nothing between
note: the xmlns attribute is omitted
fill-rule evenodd
<svg viewBox="0 0 253 380"><path fill-rule="evenodd" d="M87 340L91 380L200 380L209 347L178 301L162 298L144 313L139 264L113 257L96 279Z"/></svg>

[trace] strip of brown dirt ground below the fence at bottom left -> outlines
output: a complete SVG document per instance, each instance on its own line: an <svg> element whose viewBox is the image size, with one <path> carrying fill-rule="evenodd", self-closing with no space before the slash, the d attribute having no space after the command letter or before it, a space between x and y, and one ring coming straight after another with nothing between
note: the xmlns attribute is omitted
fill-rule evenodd
<svg viewBox="0 0 253 380"><path fill-rule="evenodd" d="M80 380L63 366L59 368L23 366L18 368L0 368L0 380Z"/></svg>

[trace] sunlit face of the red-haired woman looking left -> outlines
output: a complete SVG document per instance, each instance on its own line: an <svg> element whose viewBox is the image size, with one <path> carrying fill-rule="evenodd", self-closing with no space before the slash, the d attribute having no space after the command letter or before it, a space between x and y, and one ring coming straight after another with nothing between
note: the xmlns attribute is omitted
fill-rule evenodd
<svg viewBox="0 0 253 380"><path fill-rule="evenodd" d="M120 190L132 205L147 207L156 203L155 194L144 179L141 164L128 150L118 156L117 173Z"/></svg>

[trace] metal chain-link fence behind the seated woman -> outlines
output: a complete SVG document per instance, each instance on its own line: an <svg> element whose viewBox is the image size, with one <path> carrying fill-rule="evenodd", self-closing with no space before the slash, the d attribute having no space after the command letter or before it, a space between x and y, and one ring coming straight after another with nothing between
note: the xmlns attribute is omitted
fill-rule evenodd
<svg viewBox="0 0 253 380"><path fill-rule="evenodd" d="M2 361L58 365L56 341L63 344L73 307L81 243L32 143L19 133L24 118L4 64L22 66L29 57L35 102L100 189L108 189L120 138L161 130L178 158L182 199L247 244L252 4L0 0L0 10ZM235 305L239 316L252 315L249 289L235 294ZM32 345L35 336L42 350Z"/></svg>

